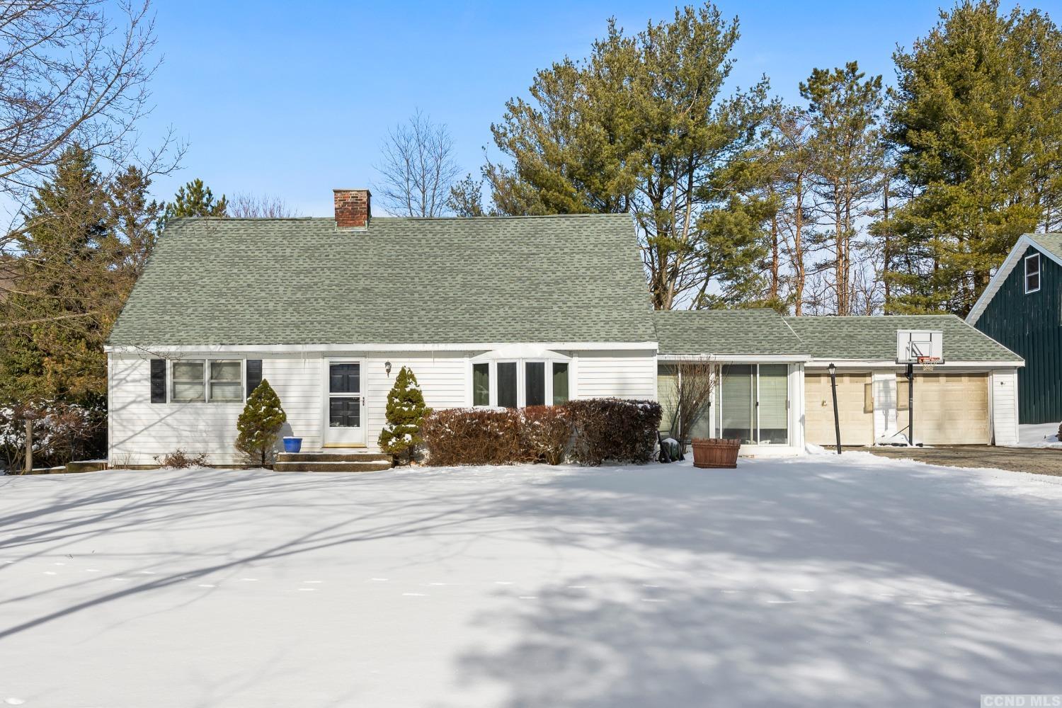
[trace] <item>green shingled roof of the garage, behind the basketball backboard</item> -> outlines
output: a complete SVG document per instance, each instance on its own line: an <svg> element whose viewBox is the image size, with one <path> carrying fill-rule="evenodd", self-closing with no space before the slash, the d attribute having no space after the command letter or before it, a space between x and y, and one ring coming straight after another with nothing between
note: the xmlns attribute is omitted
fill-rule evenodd
<svg viewBox="0 0 1062 708"><path fill-rule="evenodd" d="M952 314L786 317L786 322L816 359L895 361L897 329L929 329L944 333L945 361L1022 361Z"/></svg>

